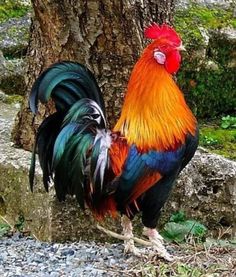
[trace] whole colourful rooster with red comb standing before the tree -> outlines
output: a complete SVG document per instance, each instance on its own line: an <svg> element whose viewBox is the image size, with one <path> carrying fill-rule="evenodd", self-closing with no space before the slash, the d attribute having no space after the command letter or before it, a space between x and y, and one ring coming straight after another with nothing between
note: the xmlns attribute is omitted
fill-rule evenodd
<svg viewBox="0 0 236 277"><path fill-rule="evenodd" d="M137 255L131 220L142 213L147 245L171 260L156 226L177 176L196 151L198 126L172 76L181 62L179 35L166 24L152 24L144 35L152 42L132 70L112 130L99 86L84 65L59 62L38 77L29 99L32 112L38 101L50 98L56 112L38 129L30 186L33 190L37 152L46 190L53 180L60 201L75 195L98 219L120 213L125 251Z"/></svg>

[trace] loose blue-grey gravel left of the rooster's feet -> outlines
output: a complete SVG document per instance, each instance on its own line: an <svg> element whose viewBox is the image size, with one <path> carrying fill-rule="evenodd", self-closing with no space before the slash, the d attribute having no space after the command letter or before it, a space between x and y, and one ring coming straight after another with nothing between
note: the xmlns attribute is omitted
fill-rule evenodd
<svg viewBox="0 0 236 277"><path fill-rule="evenodd" d="M127 276L137 258L122 244L39 242L19 234L0 240L0 276Z"/></svg>

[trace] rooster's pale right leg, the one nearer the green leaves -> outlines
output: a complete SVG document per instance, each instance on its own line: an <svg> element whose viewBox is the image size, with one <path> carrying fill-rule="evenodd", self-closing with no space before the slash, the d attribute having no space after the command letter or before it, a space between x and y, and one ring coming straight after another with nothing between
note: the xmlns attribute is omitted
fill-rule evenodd
<svg viewBox="0 0 236 277"><path fill-rule="evenodd" d="M163 237L157 232L156 229L144 227L143 234L149 238L152 248L157 255L167 261L173 261L173 257L167 252L164 244Z"/></svg>

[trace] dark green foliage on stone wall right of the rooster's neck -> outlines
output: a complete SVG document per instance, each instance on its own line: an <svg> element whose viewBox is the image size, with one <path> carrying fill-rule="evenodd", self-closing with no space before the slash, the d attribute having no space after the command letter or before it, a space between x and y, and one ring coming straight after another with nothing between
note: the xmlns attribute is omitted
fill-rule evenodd
<svg viewBox="0 0 236 277"><path fill-rule="evenodd" d="M232 69L218 72L201 68L199 72L183 67L178 82L186 99L198 118L213 118L219 114L233 113L236 107L236 87Z"/></svg>

